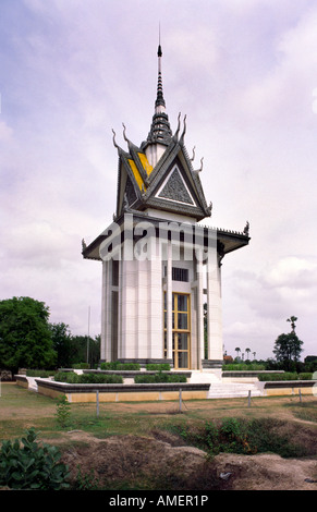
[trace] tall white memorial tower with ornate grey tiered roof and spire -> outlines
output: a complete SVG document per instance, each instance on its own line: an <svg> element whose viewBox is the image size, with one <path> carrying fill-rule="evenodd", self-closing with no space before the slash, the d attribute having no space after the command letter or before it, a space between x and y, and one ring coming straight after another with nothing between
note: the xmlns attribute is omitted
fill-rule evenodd
<svg viewBox="0 0 317 512"><path fill-rule="evenodd" d="M211 216L184 146L185 119L170 127L158 48L158 87L148 137L119 155L113 222L88 246L102 261L100 359L222 365L221 261L248 244L244 232L204 228Z"/></svg>

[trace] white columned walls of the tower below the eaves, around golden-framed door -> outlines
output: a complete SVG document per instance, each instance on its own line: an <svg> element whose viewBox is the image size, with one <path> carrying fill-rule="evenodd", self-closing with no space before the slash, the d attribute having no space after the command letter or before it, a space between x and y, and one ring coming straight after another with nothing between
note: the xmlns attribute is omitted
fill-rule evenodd
<svg viewBox="0 0 317 512"><path fill-rule="evenodd" d="M174 367L200 369L205 356L214 364L222 361L221 282L217 251L206 261L185 259L184 244L147 239L150 257L102 261L101 361L168 361ZM190 252L187 254L191 254ZM123 255L123 251L121 251ZM147 254L146 256L149 256ZM172 269L176 269L176 271ZM178 272L185 270L186 279ZM173 279L174 278L174 279ZM166 294L166 298L164 298ZM174 303L186 300L183 316L186 332L178 330ZM208 352L205 353L204 303L207 303ZM184 326L182 326L184 327ZM175 334L186 337L181 362L175 361ZM174 343L173 343L174 340Z"/></svg>

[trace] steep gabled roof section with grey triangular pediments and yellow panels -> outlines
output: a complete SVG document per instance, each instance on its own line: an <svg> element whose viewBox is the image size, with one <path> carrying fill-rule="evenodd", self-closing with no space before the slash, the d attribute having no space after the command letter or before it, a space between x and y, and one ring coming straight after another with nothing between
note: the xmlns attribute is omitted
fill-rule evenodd
<svg viewBox="0 0 317 512"><path fill-rule="evenodd" d="M148 208L190 216L197 221L210 216L199 172L193 169L182 137L171 139L154 167L144 145L137 147L129 141L129 153L119 147L118 151L117 217L126 209Z"/></svg>

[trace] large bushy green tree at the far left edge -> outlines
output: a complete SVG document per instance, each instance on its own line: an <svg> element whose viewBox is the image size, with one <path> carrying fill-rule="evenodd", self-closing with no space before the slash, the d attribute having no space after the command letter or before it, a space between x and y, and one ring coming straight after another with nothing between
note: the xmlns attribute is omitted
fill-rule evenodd
<svg viewBox="0 0 317 512"><path fill-rule="evenodd" d="M0 301L0 367L51 368L56 362L49 308L31 297Z"/></svg>

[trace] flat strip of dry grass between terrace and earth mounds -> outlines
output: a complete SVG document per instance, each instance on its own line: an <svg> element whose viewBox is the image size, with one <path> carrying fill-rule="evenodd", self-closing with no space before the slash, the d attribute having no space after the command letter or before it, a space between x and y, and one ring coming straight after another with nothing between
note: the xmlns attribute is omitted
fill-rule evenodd
<svg viewBox="0 0 317 512"><path fill-rule="evenodd" d="M26 428L35 427L46 438L62 436L64 429L57 419L57 400L19 387L1 385L0 440L20 437ZM154 429L167 429L171 425L199 427L206 420L228 417L277 418L309 422L317 427L317 399L304 397L254 398L248 406L245 399L222 399L178 402L125 402L100 403L97 417L96 404L70 404L68 429L81 429L96 437L113 435L147 435Z"/></svg>

